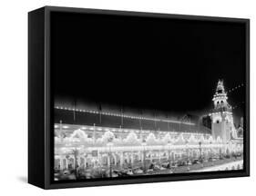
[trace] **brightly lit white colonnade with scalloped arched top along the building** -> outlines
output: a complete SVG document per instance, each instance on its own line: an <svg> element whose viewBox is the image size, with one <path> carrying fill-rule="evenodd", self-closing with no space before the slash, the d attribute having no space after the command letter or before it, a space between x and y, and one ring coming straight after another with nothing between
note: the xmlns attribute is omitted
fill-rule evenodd
<svg viewBox="0 0 256 196"><path fill-rule="evenodd" d="M142 140L135 132L129 132L125 139L117 139L113 132L108 131L94 140L88 138L85 131L76 130L67 138L55 138L55 168L63 170L69 165L74 169L76 164L85 168L109 167L110 164L123 168L141 166L144 162L176 162L182 158L199 159L200 156L242 152L242 148L242 143L224 143L220 138L213 140L210 136L206 139L202 135L196 138L194 134L189 137L179 134L175 138L167 133L157 139L149 133Z"/></svg>

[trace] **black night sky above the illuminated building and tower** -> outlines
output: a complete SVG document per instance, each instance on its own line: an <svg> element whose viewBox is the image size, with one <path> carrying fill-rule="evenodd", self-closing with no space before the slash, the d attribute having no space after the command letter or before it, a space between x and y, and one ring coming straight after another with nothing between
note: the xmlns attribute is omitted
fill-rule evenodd
<svg viewBox="0 0 256 196"><path fill-rule="evenodd" d="M201 113L219 79L245 83L245 25L137 16L51 14L54 95ZM245 90L230 94L244 111Z"/></svg>

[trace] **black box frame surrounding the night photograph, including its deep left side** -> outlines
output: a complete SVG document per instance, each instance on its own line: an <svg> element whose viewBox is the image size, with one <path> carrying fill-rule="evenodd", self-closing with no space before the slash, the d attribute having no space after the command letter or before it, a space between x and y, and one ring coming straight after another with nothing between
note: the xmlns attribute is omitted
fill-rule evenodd
<svg viewBox="0 0 256 196"><path fill-rule="evenodd" d="M127 179L97 181L52 181L53 164L53 97L50 73L50 14L51 12L86 13L100 15L132 15L141 17L233 22L245 25L246 35L246 113L244 122L244 167L241 171L207 171L158 175ZM28 182L43 189L148 183L160 181L188 181L250 176L250 20L196 15L169 15L127 11L97 10L45 6L28 14Z"/></svg>

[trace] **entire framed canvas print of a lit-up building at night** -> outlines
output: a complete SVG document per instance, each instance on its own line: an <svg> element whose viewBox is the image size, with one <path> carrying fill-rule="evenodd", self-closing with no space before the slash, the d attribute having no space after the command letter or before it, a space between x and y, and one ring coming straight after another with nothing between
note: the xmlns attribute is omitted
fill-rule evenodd
<svg viewBox="0 0 256 196"><path fill-rule="evenodd" d="M249 19L46 6L28 25L29 183L249 176Z"/></svg>

